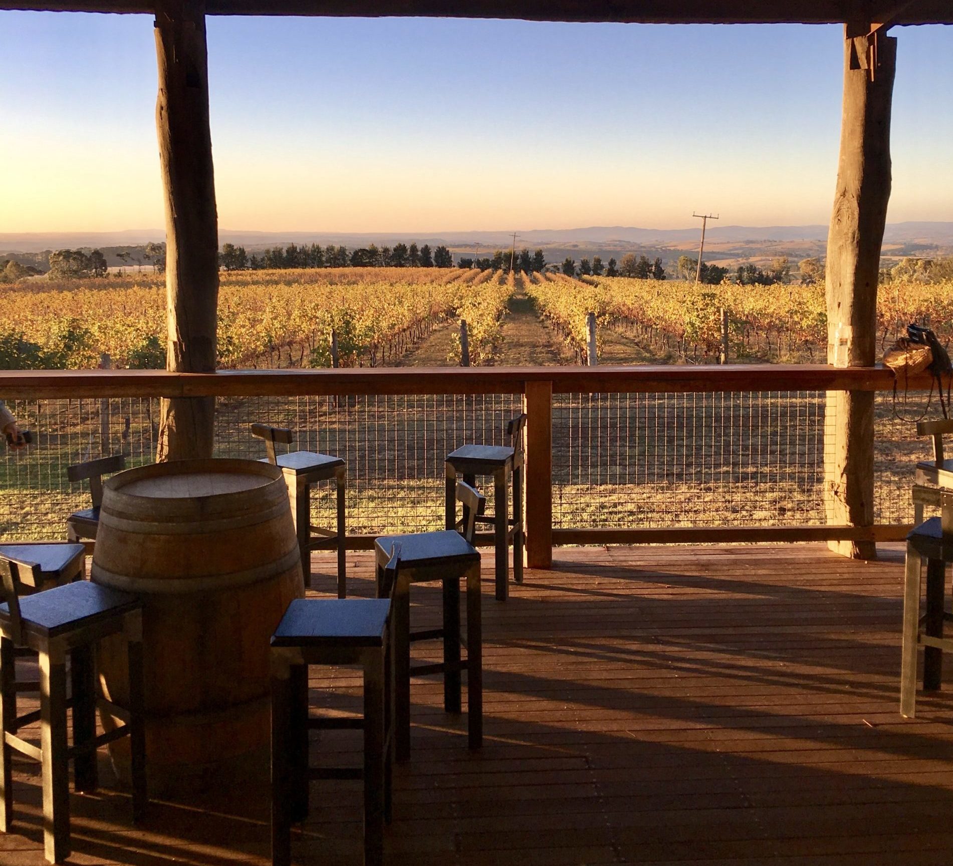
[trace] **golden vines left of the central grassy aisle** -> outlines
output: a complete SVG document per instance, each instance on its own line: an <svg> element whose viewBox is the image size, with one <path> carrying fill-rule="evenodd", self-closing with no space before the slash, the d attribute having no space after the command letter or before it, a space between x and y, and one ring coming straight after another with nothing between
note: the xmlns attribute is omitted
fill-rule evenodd
<svg viewBox="0 0 953 866"><path fill-rule="evenodd" d="M221 368L393 364L448 317L465 315L477 357L492 352L513 291L494 272L342 268L223 273ZM0 298L0 368L165 366L162 277L24 281ZM472 349L473 351L473 349Z"/></svg>

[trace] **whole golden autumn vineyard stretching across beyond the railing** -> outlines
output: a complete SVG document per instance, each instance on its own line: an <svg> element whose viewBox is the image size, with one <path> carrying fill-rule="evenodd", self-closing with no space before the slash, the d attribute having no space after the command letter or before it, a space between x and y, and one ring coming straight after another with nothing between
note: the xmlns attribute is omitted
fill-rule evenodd
<svg viewBox="0 0 953 866"><path fill-rule="evenodd" d="M614 363L656 360L706 363L722 349L727 316L732 360L821 362L827 318L821 286L697 285L561 273L476 269L339 268L224 272L219 292L221 368L380 367L406 363L435 329L443 331L430 363L459 364L456 320L467 322L470 362L505 363L501 339L508 305L528 298L554 340L542 363L587 363L586 317L597 316L598 355L618 344ZM893 281L878 305L881 349L910 321L953 337L953 282ZM102 353L115 368L165 364L165 289L152 274L87 280L25 279L0 296L0 369L90 368ZM632 351L636 347L639 351ZM425 353L426 354L426 353ZM520 355L525 363L524 355ZM557 358L556 361L553 359ZM540 363L540 361L533 361Z"/></svg>

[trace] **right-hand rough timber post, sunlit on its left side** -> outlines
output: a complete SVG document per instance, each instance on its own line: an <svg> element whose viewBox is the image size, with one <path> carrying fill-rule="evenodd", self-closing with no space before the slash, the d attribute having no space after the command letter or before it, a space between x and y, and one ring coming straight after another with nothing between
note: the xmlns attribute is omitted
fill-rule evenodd
<svg viewBox="0 0 953 866"><path fill-rule="evenodd" d="M841 155L827 235L827 361L873 366L877 280L890 198L890 104L897 40L877 24L844 29ZM828 392L827 522L874 522L874 393ZM873 541L833 541L838 553L872 558Z"/></svg>

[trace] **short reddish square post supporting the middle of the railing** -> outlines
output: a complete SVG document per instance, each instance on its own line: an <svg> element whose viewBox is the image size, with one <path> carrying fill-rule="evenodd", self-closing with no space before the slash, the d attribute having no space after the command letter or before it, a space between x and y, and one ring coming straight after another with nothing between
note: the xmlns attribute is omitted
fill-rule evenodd
<svg viewBox="0 0 953 866"><path fill-rule="evenodd" d="M527 382L526 413L526 565L553 564L553 383Z"/></svg>

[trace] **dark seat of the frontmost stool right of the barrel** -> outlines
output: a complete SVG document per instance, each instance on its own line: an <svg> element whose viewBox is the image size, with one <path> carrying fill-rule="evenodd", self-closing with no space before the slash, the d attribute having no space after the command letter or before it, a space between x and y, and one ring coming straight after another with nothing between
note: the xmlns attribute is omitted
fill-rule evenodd
<svg viewBox="0 0 953 866"><path fill-rule="evenodd" d="M382 647L389 598L295 598L272 635L273 647Z"/></svg>

